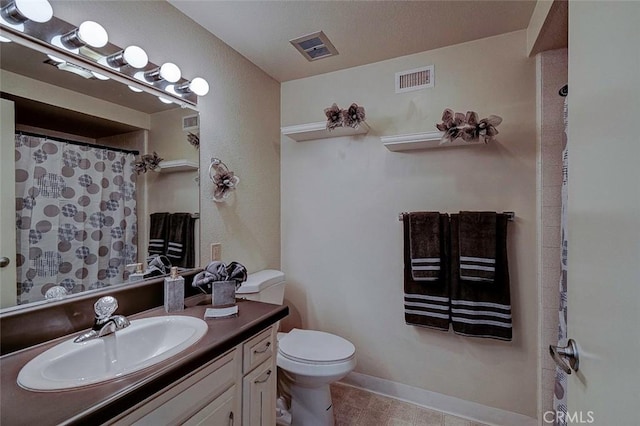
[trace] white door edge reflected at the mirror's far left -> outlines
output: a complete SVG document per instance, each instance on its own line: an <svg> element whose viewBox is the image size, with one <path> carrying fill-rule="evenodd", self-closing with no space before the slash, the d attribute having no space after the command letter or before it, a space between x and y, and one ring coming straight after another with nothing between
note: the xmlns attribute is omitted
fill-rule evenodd
<svg viewBox="0 0 640 426"><path fill-rule="evenodd" d="M16 304L15 112L0 99L0 308Z"/></svg>

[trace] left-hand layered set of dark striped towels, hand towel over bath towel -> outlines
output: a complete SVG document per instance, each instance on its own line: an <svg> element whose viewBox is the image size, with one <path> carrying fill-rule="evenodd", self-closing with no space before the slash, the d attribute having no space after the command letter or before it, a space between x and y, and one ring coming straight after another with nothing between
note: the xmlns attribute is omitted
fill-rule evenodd
<svg viewBox="0 0 640 426"><path fill-rule="evenodd" d="M447 331L449 218L437 212L411 213L404 215L403 224L405 322Z"/></svg>

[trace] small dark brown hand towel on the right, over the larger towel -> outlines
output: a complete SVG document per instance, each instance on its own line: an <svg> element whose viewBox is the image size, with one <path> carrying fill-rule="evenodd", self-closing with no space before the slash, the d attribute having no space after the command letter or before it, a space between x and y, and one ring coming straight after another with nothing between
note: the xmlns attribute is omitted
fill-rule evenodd
<svg viewBox="0 0 640 426"><path fill-rule="evenodd" d="M496 213L460 212L460 278L493 282L496 267Z"/></svg>

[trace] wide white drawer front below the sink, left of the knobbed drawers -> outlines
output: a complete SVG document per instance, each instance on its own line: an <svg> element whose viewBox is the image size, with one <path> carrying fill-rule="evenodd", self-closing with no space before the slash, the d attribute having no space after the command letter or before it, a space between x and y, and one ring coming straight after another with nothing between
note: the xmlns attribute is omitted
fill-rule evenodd
<svg viewBox="0 0 640 426"><path fill-rule="evenodd" d="M229 389L239 370L237 349L222 355L185 380L134 407L116 425L179 425Z"/></svg>

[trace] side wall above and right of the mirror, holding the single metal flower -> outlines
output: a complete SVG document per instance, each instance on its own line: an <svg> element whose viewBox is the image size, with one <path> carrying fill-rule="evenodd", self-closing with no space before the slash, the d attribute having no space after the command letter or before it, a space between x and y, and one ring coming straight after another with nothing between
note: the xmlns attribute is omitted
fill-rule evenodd
<svg viewBox="0 0 640 426"><path fill-rule="evenodd" d="M278 82L164 1L57 1L54 14L79 24L100 22L110 41L137 44L151 62L180 66L187 78L207 79L199 100L201 259L222 243L224 261L249 271L280 266ZM241 179L226 204L211 200L211 157L221 158Z"/></svg>

